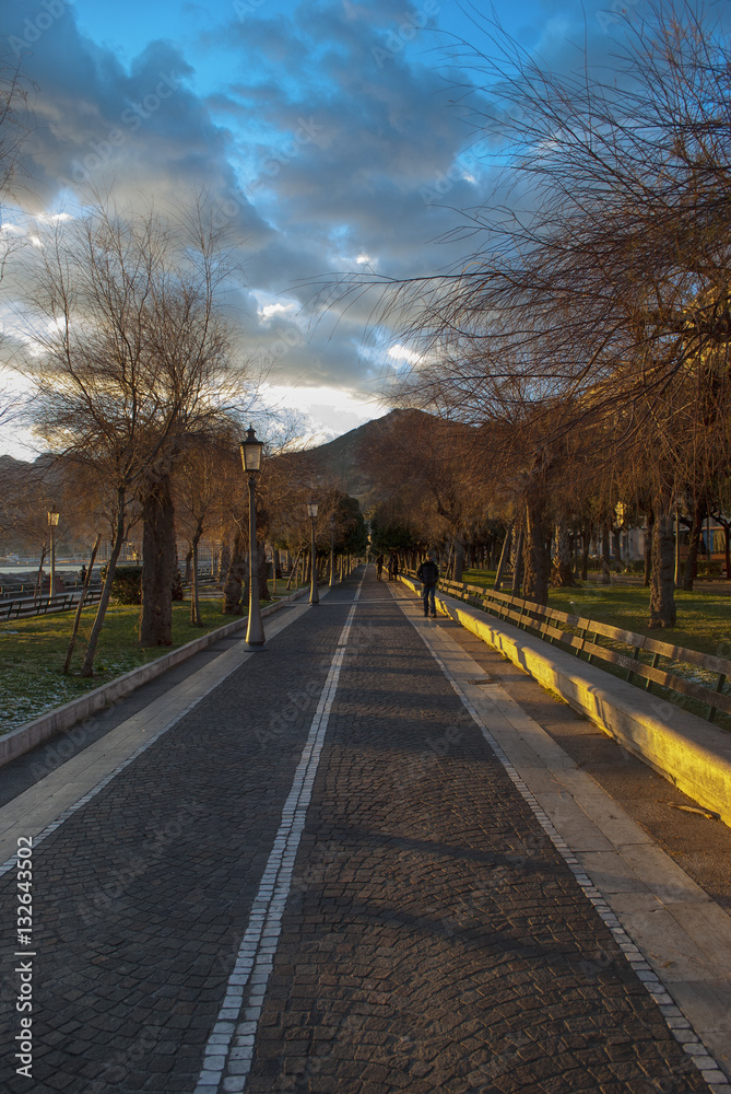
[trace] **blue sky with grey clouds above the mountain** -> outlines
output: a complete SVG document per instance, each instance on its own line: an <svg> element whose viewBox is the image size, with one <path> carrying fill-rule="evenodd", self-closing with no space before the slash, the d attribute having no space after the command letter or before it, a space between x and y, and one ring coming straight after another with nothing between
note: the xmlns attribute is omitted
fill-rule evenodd
<svg viewBox="0 0 731 1094"><path fill-rule="evenodd" d="M120 206L190 205L205 189L240 253L231 307L267 397L327 440L385 412L413 358L374 327L373 301L323 312L343 272L416 277L453 266L462 210L494 198L496 167L455 83L458 46L490 48L496 19L556 68L597 62L645 0L3 0L0 54L33 82L33 182L4 224L76 216L89 187ZM613 10L614 8L614 10ZM473 103L480 103L479 92ZM30 218L30 219L28 219ZM17 304L0 295L5 356ZM28 458L5 428L0 452ZM27 438L25 438L27 441Z"/></svg>

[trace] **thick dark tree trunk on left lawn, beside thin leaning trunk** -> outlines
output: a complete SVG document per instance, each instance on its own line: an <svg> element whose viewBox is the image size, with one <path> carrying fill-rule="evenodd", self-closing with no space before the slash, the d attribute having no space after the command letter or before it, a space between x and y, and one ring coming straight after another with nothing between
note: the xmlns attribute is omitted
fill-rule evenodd
<svg viewBox="0 0 731 1094"><path fill-rule="evenodd" d="M175 510L167 472L142 497L140 645L173 644L173 574L177 565Z"/></svg>

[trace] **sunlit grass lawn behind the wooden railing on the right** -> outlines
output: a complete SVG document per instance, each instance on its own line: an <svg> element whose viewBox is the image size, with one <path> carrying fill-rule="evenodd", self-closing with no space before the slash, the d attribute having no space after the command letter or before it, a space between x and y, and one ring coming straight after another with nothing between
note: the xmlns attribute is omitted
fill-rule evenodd
<svg viewBox="0 0 731 1094"><path fill-rule="evenodd" d="M494 572L465 570L464 581L471 585L492 587ZM508 590L506 590L507 592ZM731 596L704 592L675 592L677 625L672 630L653 630L647 626L650 591L641 585L597 585L586 582L577 589L552 589L549 607L580 615L611 627L651 635L659 642L682 645L699 653L731 657Z"/></svg>

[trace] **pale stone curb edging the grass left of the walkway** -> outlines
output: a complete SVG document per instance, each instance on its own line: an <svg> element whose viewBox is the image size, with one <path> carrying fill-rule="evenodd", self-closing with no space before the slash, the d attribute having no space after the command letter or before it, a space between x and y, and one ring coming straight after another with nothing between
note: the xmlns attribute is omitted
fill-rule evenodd
<svg viewBox="0 0 731 1094"><path fill-rule="evenodd" d="M262 608L261 614L262 616L272 615L286 604L292 603L292 601L297 601L307 594L309 594L309 586L299 589L296 593L287 596L286 600L278 601L276 604L270 604L268 607ZM246 627L247 621L247 617L241 616L233 620L233 622L227 622L223 627L216 628L216 630L209 631L208 635L194 638L192 642L187 642L170 653L163 654L162 657L157 657L146 665L132 668L131 672L125 673L123 676L118 676L116 680L109 680L108 684L103 684L102 687L97 687L93 691L87 691L86 695L82 695L78 699L72 699L62 707L49 710L32 722L26 722L25 725L19 725L14 730L11 730L10 733L3 734L3 736L0 736L0 767L10 764L17 756L23 756L25 753L31 752L36 745L48 741L49 737L56 736L57 733L62 733L64 730L70 729L83 718L89 718L90 714L94 714L97 710L108 707L109 703L116 702L118 699L123 699L125 696L134 691L142 684L146 684L148 680L154 679L156 676L162 676L168 668L174 668L175 665L187 661L188 657L200 653L201 650L213 645L222 638L227 638L228 635L235 633L237 630Z"/></svg>

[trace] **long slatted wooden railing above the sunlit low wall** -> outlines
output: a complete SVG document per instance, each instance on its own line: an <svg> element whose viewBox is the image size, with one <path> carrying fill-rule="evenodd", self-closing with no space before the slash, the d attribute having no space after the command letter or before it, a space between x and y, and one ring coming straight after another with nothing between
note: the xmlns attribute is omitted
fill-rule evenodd
<svg viewBox="0 0 731 1094"><path fill-rule="evenodd" d="M415 578L413 570L404 572ZM481 585L448 581L444 578L439 580L438 585L449 595L481 607L516 627L533 631L542 639L561 645L576 656L583 654L589 663L596 659L624 670L629 683L634 684L635 677L639 677L642 683L635 684L636 687L641 686L645 690L649 690L650 684L657 684L671 693L679 693L704 703L707 710L703 717L709 722L714 721L719 710L731 714L731 695L723 690L727 680L731 679L731 661L726 657L698 653L697 650L687 650L670 642L660 642L656 638L637 635L632 630L612 627L596 619L587 619L585 616L570 615L537 604L535 601L499 593L493 589L483 589ZM603 645L599 641L602 638L627 647L627 650L621 651ZM642 655L651 656L651 660L644 661ZM670 664L661 667L661 659ZM673 666L676 665L692 665L715 674L716 687L697 683L673 672Z"/></svg>

